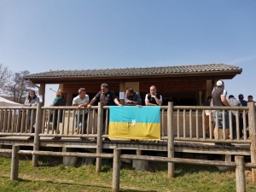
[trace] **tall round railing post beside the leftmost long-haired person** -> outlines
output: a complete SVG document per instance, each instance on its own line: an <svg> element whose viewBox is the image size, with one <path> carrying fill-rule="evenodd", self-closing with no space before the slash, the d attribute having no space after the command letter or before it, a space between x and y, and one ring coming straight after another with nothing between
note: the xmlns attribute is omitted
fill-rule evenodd
<svg viewBox="0 0 256 192"><path fill-rule="evenodd" d="M35 135L34 135L34 145L33 150L38 151L40 146L40 138L39 138L39 132L42 126L42 110L41 110L42 103L38 102L37 104L37 116L36 116L36 127L35 127ZM38 155L33 154L32 155L32 165L38 166Z"/></svg>

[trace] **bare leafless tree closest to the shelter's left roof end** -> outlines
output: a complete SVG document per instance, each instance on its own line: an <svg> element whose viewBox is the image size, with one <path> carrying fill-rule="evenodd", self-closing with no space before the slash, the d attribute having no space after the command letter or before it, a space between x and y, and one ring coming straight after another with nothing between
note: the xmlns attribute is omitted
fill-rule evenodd
<svg viewBox="0 0 256 192"><path fill-rule="evenodd" d="M13 98L14 102L24 103L27 93L30 90L35 89L35 85L30 81L23 79L24 76L29 74L29 71L22 71L20 73L15 73L12 76L12 82L7 85L7 93Z"/></svg>

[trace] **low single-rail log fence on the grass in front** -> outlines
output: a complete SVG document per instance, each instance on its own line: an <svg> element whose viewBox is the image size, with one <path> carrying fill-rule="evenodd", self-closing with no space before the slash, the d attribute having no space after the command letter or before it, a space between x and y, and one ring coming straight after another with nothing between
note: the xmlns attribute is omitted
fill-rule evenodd
<svg viewBox="0 0 256 192"><path fill-rule="evenodd" d="M170 162L179 164L192 164L192 165L203 165L203 166L229 166L236 167L236 191L246 191L246 177L245 168L256 168L255 163L244 163L242 156L236 156L235 162L215 161L215 160L191 160L181 158L167 158L167 157L155 157L146 155L135 155L135 154L121 154L121 149L114 148L113 154L89 154L89 153L70 153L70 152L52 152L52 151L29 151L20 150L20 146L13 145L12 149L0 149L0 153L11 153L11 180L18 180L19 176L19 159L20 154L32 154L32 155L44 155L44 156L68 156L68 157L93 157L93 158L104 158L113 159L113 182L112 189L114 192L119 192L119 181L120 181L120 160L151 160L160 162Z"/></svg>

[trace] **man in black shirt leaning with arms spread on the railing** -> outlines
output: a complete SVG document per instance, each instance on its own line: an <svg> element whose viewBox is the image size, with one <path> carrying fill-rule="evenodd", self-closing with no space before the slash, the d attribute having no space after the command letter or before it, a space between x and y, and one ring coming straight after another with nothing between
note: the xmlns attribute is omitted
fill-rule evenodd
<svg viewBox="0 0 256 192"><path fill-rule="evenodd" d="M93 103L96 101L103 102L104 106L115 106L115 105L122 106L122 104L120 104L118 99L116 98L114 92L112 90L108 90L108 84L101 84L101 91L99 91L96 94L96 96L93 97L93 99L87 105L87 108L91 108L91 105L93 105ZM105 132L105 127L106 127L106 110L103 111L103 127L102 127L103 132ZM110 142L111 140L109 138L105 138L105 141Z"/></svg>

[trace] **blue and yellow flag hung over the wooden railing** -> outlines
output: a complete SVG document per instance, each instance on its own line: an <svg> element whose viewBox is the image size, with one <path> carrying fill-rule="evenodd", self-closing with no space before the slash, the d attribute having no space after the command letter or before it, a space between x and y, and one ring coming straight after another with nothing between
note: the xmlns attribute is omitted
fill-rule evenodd
<svg viewBox="0 0 256 192"><path fill-rule="evenodd" d="M110 138L160 140L159 106L109 106Z"/></svg>

